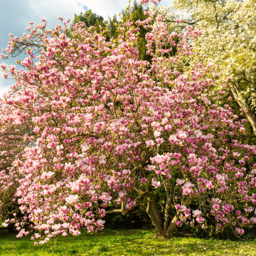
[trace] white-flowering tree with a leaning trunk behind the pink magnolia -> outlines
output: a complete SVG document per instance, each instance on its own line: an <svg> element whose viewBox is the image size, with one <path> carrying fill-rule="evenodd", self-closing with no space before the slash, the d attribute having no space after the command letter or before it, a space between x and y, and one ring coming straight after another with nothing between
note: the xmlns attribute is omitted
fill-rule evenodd
<svg viewBox="0 0 256 256"><path fill-rule="evenodd" d="M174 9L182 13L177 15ZM228 86L256 134L255 1L176 0L172 8L160 12L170 24L179 20L180 27L189 24L202 28L202 36L193 42L195 52L201 53L196 58L203 60L206 54L208 62L218 65L216 89Z"/></svg>

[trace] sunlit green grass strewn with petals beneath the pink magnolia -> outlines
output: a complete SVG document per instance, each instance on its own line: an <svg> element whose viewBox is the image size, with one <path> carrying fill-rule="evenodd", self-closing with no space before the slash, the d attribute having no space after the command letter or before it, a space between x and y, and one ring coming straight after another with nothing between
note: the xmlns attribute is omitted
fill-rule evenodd
<svg viewBox="0 0 256 256"><path fill-rule="evenodd" d="M191 237L154 239L152 230L111 230L98 234L81 232L78 237L60 238L54 245L33 245L29 237L17 239L15 234L0 233L1 256L250 256L255 255L255 241L223 241Z"/></svg>

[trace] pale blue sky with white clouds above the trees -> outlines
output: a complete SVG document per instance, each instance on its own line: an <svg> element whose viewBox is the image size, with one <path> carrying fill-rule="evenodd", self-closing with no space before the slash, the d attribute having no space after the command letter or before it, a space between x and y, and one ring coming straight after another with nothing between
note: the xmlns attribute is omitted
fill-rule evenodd
<svg viewBox="0 0 256 256"><path fill-rule="evenodd" d="M11 4L10 4L11 3ZM9 41L9 33L21 37L26 32L26 27L30 26L28 22L34 24L42 23L41 18L47 20L47 28L54 28L60 21L58 16L63 17L64 21L74 19L75 14L85 12L91 9L92 12L101 15L105 20L108 16L118 15L122 9L128 5L128 0L0 0L0 51L5 49ZM162 0L161 5L170 5L171 0ZM22 59L22 56L0 59L0 64L15 64L15 60ZM17 64L16 64L17 67ZM14 83L12 79L3 79L0 74L0 96L8 91Z"/></svg>

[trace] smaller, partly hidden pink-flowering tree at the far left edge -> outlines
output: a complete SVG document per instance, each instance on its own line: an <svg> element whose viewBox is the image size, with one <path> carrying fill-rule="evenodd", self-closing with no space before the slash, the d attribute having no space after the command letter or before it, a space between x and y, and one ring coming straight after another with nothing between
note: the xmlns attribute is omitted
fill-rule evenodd
<svg viewBox="0 0 256 256"><path fill-rule="evenodd" d="M17 109L0 101L0 215L4 219L18 209L14 192L19 186L18 173L12 166L12 162L22 154L28 145L23 141L29 128L25 124L22 127L10 122L18 118ZM22 113L28 116L28 114Z"/></svg>

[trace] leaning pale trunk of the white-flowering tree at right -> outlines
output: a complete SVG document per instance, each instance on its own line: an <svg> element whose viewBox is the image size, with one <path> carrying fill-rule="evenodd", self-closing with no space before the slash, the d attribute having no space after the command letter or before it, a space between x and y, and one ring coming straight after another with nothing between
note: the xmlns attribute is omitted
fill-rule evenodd
<svg viewBox="0 0 256 256"><path fill-rule="evenodd" d="M248 103L246 102L245 98L242 97L240 93L241 89L239 85L235 85L231 87L231 92L233 93L236 101L238 102L239 106L244 110L247 119L249 120L254 134L256 135L256 118L252 110L250 109Z"/></svg>

